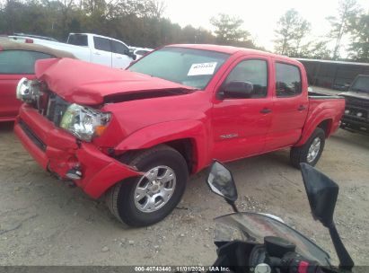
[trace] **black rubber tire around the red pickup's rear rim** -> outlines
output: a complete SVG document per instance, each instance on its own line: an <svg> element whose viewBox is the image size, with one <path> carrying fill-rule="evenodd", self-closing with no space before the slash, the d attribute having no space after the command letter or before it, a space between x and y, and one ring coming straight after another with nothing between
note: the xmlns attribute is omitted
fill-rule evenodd
<svg viewBox="0 0 369 273"><path fill-rule="evenodd" d="M321 146L314 160L309 162L308 161L309 149L317 137L319 137L321 141ZM291 148L290 159L291 159L292 165L297 169L300 169L300 163L308 163L311 166L315 166L315 164L318 163L319 159L321 158L321 153L323 152L324 144L325 144L324 130L322 128L316 128L312 132L312 136L309 137L309 139L306 141L304 145Z"/></svg>

